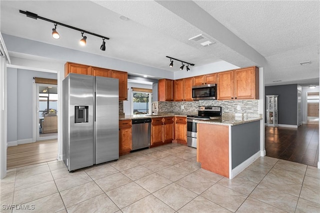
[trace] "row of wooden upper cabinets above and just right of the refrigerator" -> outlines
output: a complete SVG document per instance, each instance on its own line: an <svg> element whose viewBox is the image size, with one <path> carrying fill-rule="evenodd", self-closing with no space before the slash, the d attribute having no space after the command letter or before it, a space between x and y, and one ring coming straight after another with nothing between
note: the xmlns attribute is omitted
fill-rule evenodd
<svg viewBox="0 0 320 213"><path fill-rule="evenodd" d="M119 101L127 100L127 72L66 62L64 65L64 77L69 73L117 78L119 79Z"/></svg>

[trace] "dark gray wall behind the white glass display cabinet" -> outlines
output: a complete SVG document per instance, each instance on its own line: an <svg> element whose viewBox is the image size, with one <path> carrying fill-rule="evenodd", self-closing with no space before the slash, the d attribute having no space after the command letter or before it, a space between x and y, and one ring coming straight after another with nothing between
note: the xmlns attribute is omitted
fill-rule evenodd
<svg viewBox="0 0 320 213"><path fill-rule="evenodd" d="M266 86L265 95L278 95L278 124L297 125L297 84Z"/></svg>

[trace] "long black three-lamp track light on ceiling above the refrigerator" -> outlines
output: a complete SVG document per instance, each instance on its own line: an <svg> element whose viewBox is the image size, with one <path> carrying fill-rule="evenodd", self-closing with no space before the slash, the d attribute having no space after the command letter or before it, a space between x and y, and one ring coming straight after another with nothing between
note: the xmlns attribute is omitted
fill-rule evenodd
<svg viewBox="0 0 320 213"><path fill-rule="evenodd" d="M80 31L81 35L82 35L82 38L80 40L80 44L83 45L83 46L86 44L86 36L83 36L83 33L100 37L100 38L102 38L102 45L100 46L100 49L102 51L105 51L105 41L104 41L104 39L109 40L109 38L106 37L106 36L98 35L98 34L95 34L93 32L89 32L89 31L86 31L86 30L83 30L83 29L80 29L80 28L76 28L74 26L70 26L70 25L55 21L55 20L51 20L51 19L48 19L48 18L45 18L45 17L41 17L41 16L38 16L37 14L35 14L33 12L23 11L23 10L19 10L19 12L22 13L22 14L25 14L29 18L41 19L41 20L45 20L45 21L53 23L54 24L54 28L52 28L52 37L54 39L59 39L60 38L59 33L56 31L56 26L57 25L64 26L64 27L67 27L67 28L70 28L70 29L74 29L74 30Z"/></svg>

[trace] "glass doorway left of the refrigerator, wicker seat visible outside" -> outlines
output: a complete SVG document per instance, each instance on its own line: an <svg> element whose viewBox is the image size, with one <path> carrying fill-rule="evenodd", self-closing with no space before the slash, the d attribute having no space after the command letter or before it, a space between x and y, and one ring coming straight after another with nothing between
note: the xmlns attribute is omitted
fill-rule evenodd
<svg viewBox="0 0 320 213"><path fill-rule="evenodd" d="M58 132L57 85L36 83L36 141L56 139Z"/></svg>

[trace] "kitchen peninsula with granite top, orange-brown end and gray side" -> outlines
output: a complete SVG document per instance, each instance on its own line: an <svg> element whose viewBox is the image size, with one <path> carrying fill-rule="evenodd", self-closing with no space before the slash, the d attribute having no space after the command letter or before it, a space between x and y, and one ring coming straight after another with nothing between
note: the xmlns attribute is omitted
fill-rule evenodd
<svg viewBox="0 0 320 213"><path fill-rule="evenodd" d="M229 179L260 156L259 117L197 120L197 161L201 168Z"/></svg>

